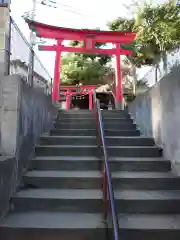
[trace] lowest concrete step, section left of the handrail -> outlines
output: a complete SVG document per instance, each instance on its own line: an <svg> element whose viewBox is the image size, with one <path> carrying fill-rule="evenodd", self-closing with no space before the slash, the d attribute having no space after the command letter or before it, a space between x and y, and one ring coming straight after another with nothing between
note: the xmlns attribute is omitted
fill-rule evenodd
<svg viewBox="0 0 180 240"><path fill-rule="evenodd" d="M101 214L22 212L1 222L0 239L99 240L105 239L105 231Z"/></svg>

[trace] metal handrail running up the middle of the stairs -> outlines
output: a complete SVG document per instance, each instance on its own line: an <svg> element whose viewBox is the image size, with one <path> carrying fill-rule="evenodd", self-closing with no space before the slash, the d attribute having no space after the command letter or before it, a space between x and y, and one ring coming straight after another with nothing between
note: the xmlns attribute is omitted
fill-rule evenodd
<svg viewBox="0 0 180 240"><path fill-rule="evenodd" d="M98 132L98 141L99 145L103 149L104 154L104 172L103 172L103 197L104 197L104 217L105 221L108 219L108 198L109 198L109 205L111 208L112 214L112 223L113 223L113 233L114 233L114 240L119 240L119 222L116 212L116 204L115 204L115 197L114 197L114 190L112 186L112 178L111 172L109 169L108 163L108 153L105 143L105 134L104 134L104 126L102 120L102 111L100 109L100 101L96 97L96 91L93 91L93 100L94 100L94 111L96 115L96 122L97 122L97 132Z"/></svg>

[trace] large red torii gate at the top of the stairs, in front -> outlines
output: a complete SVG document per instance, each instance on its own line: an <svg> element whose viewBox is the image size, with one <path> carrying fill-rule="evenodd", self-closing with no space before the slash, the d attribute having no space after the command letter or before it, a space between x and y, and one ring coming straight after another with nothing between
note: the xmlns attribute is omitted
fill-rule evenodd
<svg viewBox="0 0 180 240"><path fill-rule="evenodd" d="M89 54L108 54L116 56L116 103L120 107L123 101L123 90L122 90L122 77L121 77L121 66L120 66L120 55L131 55L132 51L123 50L120 44L131 44L136 37L134 32L113 32L113 31L99 31L90 29L71 29L62 28L56 26L50 26L43 23L35 22L26 19L29 28L33 30L37 37L55 39L56 45L39 46L39 50L44 51L55 51L56 61L54 68L54 83L53 83L53 94L52 99L58 101L60 98L60 64L61 64L61 53L62 52L76 52L76 53L89 53ZM67 47L63 45L64 40L76 40L84 41L83 47ZM99 49L96 48L96 43L112 43L115 44L116 48L113 49Z"/></svg>

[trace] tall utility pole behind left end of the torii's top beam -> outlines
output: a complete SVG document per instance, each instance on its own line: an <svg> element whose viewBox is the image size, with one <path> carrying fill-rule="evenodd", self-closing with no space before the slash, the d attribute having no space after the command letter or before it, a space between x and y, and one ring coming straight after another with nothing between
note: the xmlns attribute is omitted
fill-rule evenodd
<svg viewBox="0 0 180 240"><path fill-rule="evenodd" d="M33 0L33 7L32 7L32 20L35 20L36 16L36 0ZM29 55L29 66L28 66L28 82L30 83L31 87L34 85L34 46L35 46L36 35L31 30L30 33L30 55Z"/></svg>

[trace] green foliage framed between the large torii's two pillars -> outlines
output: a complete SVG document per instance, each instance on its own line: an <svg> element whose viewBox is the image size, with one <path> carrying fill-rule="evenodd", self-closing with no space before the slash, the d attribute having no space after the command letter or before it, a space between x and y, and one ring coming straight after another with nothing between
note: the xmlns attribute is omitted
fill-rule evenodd
<svg viewBox="0 0 180 240"><path fill-rule="evenodd" d="M83 42L72 41L71 46L82 46ZM96 44L101 47L104 44ZM84 84L102 83L105 65L111 60L108 55L68 53L62 57L62 82L75 84L77 80Z"/></svg>

